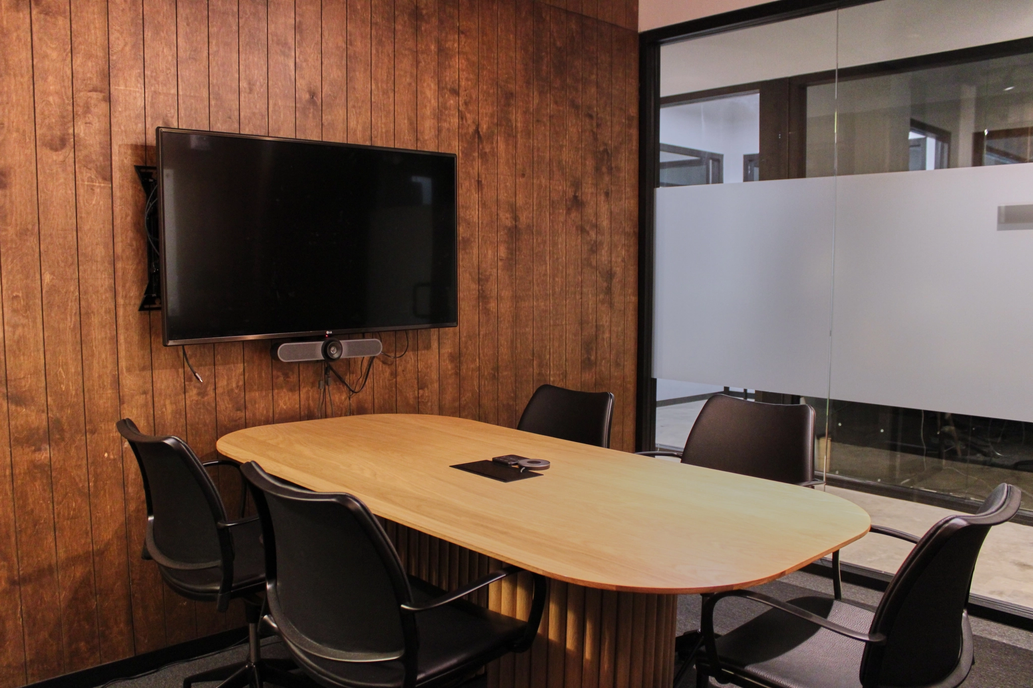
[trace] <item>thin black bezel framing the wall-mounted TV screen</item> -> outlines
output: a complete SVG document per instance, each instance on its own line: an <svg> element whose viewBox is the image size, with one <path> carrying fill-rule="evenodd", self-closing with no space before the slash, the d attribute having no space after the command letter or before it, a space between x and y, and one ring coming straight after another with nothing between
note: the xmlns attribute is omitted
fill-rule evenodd
<svg viewBox="0 0 1033 688"><path fill-rule="evenodd" d="M162 298L161 304L161 338L162 345L165 347L180 347L184 345L198 345L198 343L218 343L220 341L251 341L254 339L295 339L304 337L325 337L334 336L339 334L358 334L366 332L395 332L402 330L428 330L437 329L445 327L458 327L459 326L459 160L455 153L439 153L435 151L415 151L412 149L397 149L384 145L365 145L362 143L341 143L338 141L319 141L307 138L284 138L281 136L255 136L251 134L237 134L230 132L222 131L206 131L202 129L180 129L177 127L157 127L155 129L155 148L157 150L157 170L155 175L158 181L158 240L159 247L161 249L161 255L159 256L159 264L161 266L161 293L166 294L165 280L167 276L167 270L165 269L165 208L164 208L164 189L162 186L161 173L161 134L164 132L174 134L199 134L202 136L223 136L227 138L247 138L252 140L260 141L277 141L277 142L289 142L289 143L307 143L316 145L335 145L345 149L365 149L368 151L384 151L384 152L395 152L395 153L416 153L419 155L427 156L439 156L442 158L451 158L453 161L452 169L456 173L456 178L453 179L452 189L455 192L453 199L453 232L452 232L452 255L456 256L455 266L456 273L452 275L452 284L456 286L456 320L453 322L447 323L428 323L421 325L401 325L401 326L385 326L385 327L368 327L368 328L344 328L335 330L309 330L305 332L269 332L264 334L245 334L245 335L234 335L225 337L204 337L198 339L169 339L168 338L168 323L166 309L164 304L164 299Z"/></svg>

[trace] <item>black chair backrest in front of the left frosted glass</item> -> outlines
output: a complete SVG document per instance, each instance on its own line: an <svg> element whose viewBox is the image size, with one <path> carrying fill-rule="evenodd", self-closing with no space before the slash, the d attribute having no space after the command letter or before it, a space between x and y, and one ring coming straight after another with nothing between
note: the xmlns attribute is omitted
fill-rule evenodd
<svg viewBox="0 0 1033 688"><path fill-rule="evenodd" d="M682 463L781 483L814 478L814 408L716 394L696 417Z"/></svg>

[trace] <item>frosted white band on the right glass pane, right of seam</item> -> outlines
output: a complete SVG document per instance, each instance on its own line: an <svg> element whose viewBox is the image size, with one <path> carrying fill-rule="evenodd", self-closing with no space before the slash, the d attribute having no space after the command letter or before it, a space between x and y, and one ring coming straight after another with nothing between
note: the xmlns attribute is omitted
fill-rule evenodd
<svg viewBox="0 0 1033 688"><path fill-rule="evenodd" d="M1031 203L1033 165L839 177L831 396L1033 421Z"/></svg>

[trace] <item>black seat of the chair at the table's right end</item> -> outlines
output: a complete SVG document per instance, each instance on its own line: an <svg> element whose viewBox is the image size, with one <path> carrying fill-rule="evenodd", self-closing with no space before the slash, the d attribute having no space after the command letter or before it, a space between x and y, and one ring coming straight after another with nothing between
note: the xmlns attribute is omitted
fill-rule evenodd
<svg viewBox="0 0 1033 688"><path fill-rule="evenodd" d="M862 632L872 624L871 612L846 602L807 596L789 603ZM717 638L717 651L723 667L770 686L862 688L864 643L781 610L764 612ZM698 662L708 665L706 653L700 653Z"/></svg>

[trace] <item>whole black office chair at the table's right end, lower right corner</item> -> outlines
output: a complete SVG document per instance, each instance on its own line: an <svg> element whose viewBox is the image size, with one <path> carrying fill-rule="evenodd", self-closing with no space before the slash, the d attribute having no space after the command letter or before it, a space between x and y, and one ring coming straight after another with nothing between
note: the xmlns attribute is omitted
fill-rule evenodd
<svg viewBox="0 0 1033 688"><path fill-rule="evenodd" d="M896 530L873 532L916 543L874 613L826 597L788 602L751 590L712 595L703 603L706 654L696 685L709 677L755 688L953 688L972 666L968 603L972 571L991 526L1019 511L1022 493L1002 483L975 515L948 516L919 539ZM714 634L714 608L746 597L769 612L729 633Z"/></svg>

